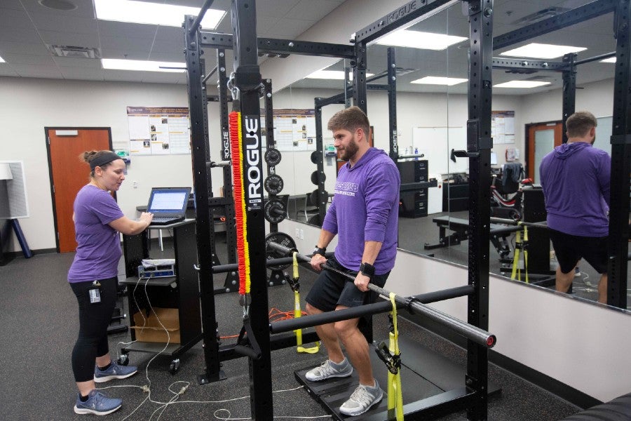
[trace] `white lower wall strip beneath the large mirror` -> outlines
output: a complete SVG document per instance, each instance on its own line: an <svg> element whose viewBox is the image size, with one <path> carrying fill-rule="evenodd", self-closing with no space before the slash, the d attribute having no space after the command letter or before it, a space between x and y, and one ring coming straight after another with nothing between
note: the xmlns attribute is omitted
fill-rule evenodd
<svg viewBox="0 0 631 421"><path fill-rule="evenodd" d="M280 231L304 229L294 237L301 253L311 253L318 228L285 220ZM328 247L334 250L332 244ZM402 296L468 283L466 267L399 250L386 289ZM466 298L432 307L467 320ZM631 313L499 276L489 280L489 332L494 351L601 401L631 389ZM405 356L404 356L405 358Z"/></svg>

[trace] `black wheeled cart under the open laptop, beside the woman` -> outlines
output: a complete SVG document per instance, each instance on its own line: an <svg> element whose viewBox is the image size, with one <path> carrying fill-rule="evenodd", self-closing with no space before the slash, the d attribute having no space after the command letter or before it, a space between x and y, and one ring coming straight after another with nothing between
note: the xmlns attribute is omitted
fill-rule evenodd
<svg viewBox="0 0 631 421"><path fill-rule="evenodd" d="M180 343L169 344L163 352L172 356L171 373L179 369L179 355L202 339L199 281L194 269L197 263L195 227L195 220L187 219L170 225L149 225L149 228L140 234L123 235L123 256L127 278L122 283L128 286L130 326L135 326L133 314L149 309L149 304L151 307L177 309ZM147 231L151 229L173 230L175 276L138 279L138 266L142 259L149 258ZM135 288L136 286L138 288ZM147 295L145 295L145 290ZM134 329L131 330L131 338L133 341L136 340ZM165 342L136 341L121 349L121 353L125 356L132 351L156 354L161 352L165 345Z"/></svg>

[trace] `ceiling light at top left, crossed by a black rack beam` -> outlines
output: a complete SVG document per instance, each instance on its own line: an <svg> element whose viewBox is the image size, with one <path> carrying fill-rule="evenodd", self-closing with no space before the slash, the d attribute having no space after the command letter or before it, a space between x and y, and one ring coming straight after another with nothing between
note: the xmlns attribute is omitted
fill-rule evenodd
<svg viewBox="0 0 631 421"><path fill-rule="evenodd" d="M146 3L133 0L94 0L97 19L149 25L182 26L184 15L198 15L200 8L172 4ZM201 26L216 29L226 15L225 11L209 8Z"/></svg>

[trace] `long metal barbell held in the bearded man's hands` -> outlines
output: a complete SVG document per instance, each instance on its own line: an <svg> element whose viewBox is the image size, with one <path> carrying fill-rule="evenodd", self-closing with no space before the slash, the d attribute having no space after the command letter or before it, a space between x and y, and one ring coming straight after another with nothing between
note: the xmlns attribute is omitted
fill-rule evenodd
<svg viewBox="0 0 631 421"><path fill-rule="evenodd" d="M270 249L277 250L280 253L284 253L285 255L294 252L294 250L290 248L281 246L280 244L273 243L273 242L269 243L268 247ZM298 260L301 260L303 262L311 261L311 258L309 258L306 255L302 255L300 253L296 253L296 257ZM346 277L346 279L348 279L349 281L355 280L355 276L351 274L347 274L346 272L341 272L340 270L334 269L333 267L330 267L328 265L320 265L320 267L330 272L335 272L337 274L340 274ZM386 297L389 297L391 294L390 291L385 290L384 288L379 288L379 286L376 286L373 283L368 284L368 289L372 290L375 293L385 295ZM433 309L432 307L423 305L420 302L416 302L414 298L405 298L397 294L395 294L394 298L395 298L395 302L398 302L400 305L402 305L402 307L405 307L410 312L423 314L423 316L428 317L428 319L437 321L438 323L442 323L448 328L451 328L452 330L454 330L454 332L458 333L459 335L462 335L463 337L469 340L472 340L478 345L491 348L496 343L495 335L491 335L491 333L487 332L486 330L482 330L475 326L471 326L469 323L465 323L459 319L456 319L455 317L449 316L449 314L447 313L440 312L437 309ZM365 310L362 310L361 307L358 307L358 316L363 315L362 311L365 311ZM323 315L326 314L327 316L331 316L331 313L337 313L337 312L326 312L326 313L323 313ZM308 317L310 318L311 316L308 316ZM327 317L323 316L323 319L327 319ZM324 323L331 323L331 321L324 321ZM318 324L322 324L322 323L315 323L315 324L312 324L312 326L317 326Z"/></svg>

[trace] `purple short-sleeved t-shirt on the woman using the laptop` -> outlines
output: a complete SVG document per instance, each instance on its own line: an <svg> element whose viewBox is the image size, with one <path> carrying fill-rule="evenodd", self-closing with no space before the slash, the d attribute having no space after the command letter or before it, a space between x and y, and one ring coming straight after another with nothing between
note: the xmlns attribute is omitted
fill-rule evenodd
<svg viewBox="0 0 631 421"><path fill-rule="evenodd" d="M108 224L123 217L114 198L93 185L85 185L74 199L76 255L68 281L94 281L118 275L121 239Z"/></svg>

